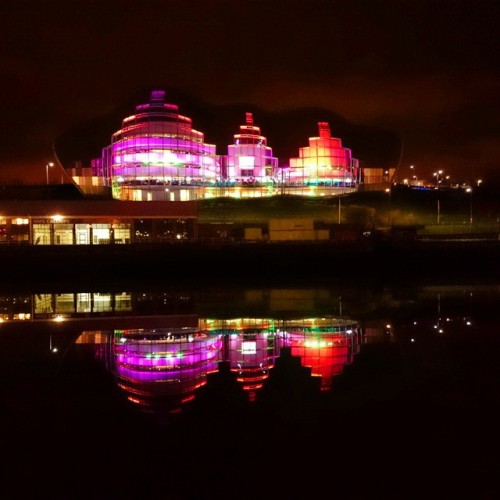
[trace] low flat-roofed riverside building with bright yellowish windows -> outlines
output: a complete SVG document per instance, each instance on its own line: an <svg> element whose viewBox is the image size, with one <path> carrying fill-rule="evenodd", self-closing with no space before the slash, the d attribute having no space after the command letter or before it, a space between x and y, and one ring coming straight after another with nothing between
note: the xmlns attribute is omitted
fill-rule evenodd
<svg viewBox="0 0 500 500"><path fill-rule="evenodd" d="M193 240L196 202L3 201L0 243L109 245Z"/></svg>

